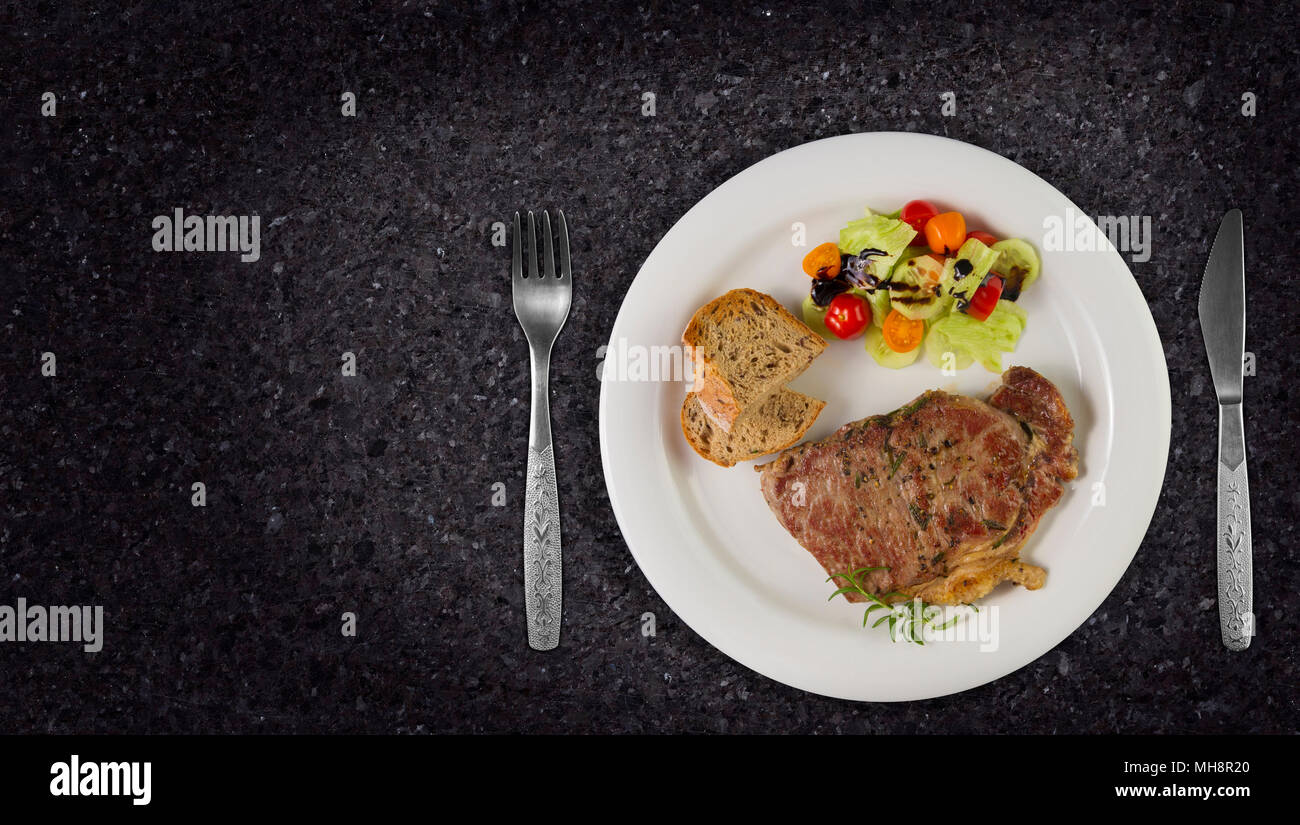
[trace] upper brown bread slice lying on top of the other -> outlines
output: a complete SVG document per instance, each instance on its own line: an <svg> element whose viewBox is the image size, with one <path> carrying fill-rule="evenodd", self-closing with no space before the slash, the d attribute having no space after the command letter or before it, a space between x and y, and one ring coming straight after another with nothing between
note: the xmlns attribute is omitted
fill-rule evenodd
<svg viewBox="0 0 1300 825"><path fill-rule="evenodd" d="M732 290L701 307L681 342L694 356L699 407L723 433L826 349L826 339L757 290Z"/></svg>

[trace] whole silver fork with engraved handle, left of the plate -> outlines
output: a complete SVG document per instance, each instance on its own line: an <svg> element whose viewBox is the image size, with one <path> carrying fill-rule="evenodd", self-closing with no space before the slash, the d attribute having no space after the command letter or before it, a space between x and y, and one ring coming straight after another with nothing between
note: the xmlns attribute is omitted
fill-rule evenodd
<svg viewBox="0 0 1300 825"><path fill-rule="evenodd" d="M551 450L551 405L547 383L551 344L568 318L573 296L569 270L568 225L556 212L560 272L555 273L551 247L551 214L542 212L543 265L537 272L537 231L528 213L528 275L524 275L523 235L515 213L515 243L511 260L511 290L515 317L528 338L533 372L533 412L528 424L528 478L524 483L524 612L528 646L549 651L560 643L560 508L555 486L555 455Z"/></svg>

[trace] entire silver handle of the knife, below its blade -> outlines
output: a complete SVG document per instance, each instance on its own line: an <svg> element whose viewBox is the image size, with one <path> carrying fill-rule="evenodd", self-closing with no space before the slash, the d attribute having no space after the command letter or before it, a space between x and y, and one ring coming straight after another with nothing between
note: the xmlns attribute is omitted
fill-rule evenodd
<svg viewBox="0 0 1300 825"><path fill-rule="evenodd" d="M1242 403L1219 404L1218 517L1219 630L1223 646L1243 651L1254 635L1251 582L1251 487L1245 478Z"/></svg>

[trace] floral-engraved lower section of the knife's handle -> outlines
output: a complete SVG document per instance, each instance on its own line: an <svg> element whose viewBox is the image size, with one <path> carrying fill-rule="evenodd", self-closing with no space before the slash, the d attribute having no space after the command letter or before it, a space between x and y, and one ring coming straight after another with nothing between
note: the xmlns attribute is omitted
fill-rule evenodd
<svg viewBox="0 0 1300 825"><path fill-rule="evenodd" d="M1218 465L1218 585L1223 644L1242 651L1254 635L1251 585L1251 495L1245 460Z"/></svg>

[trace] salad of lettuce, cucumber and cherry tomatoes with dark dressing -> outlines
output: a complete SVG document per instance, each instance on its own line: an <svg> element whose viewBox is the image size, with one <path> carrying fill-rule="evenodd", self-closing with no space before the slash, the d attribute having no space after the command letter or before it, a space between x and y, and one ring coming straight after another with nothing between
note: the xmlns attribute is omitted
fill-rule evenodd
<svg viewBox="0 0 1300 825"><path fill-rule="evenodd" d="M1002 372L1027 316L1017 299L1039 277L1039 255L1018 238L967 231L959 212L928 200L871 209L803 259L812 279L803 322L823 336L866 338L881 366L901 369L922 349L941 369L979 362Z"/></svg>

